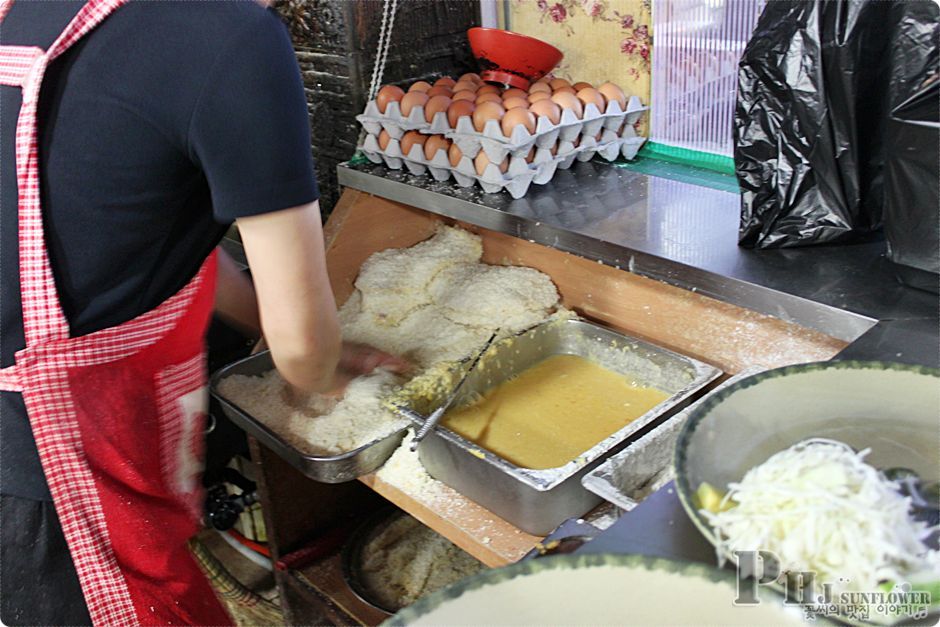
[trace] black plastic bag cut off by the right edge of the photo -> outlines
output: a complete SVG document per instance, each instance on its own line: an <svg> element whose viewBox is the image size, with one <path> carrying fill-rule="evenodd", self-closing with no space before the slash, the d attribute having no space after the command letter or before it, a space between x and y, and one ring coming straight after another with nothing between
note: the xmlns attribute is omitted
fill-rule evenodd
<svg viewBox="0 0 940 627"><path fill-rule="evenodd" d="M885 235L902 281L940 288L940 7L898 2L885 129ZM901 45L903 43L903 45Z"/></svg>

